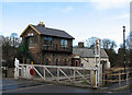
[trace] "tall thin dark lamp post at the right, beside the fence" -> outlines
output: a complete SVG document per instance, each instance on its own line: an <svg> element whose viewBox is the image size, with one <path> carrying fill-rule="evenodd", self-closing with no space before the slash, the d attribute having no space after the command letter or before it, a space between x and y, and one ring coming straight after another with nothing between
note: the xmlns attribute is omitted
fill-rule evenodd
<svg viewBox="0 0 132 95"><path fill-rule="evenodd" d="M124 66L124 79L125 79L125 26L123 26L123 66Z"/></svg>

